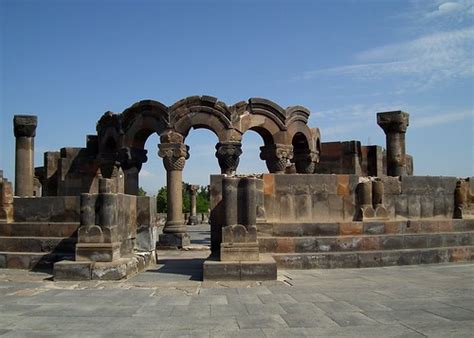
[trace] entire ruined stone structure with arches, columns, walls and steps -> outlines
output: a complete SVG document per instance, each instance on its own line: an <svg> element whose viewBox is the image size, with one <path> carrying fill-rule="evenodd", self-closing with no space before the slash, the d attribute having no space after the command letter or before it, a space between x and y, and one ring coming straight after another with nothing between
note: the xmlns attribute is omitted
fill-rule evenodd
<svg viewBox="0 0 474 338"><path fill-rule="evenodd" d="M15 116L15 192L0 175L0 267L54 266L56 280L122 279L156 261L156 248L190 243L182 171L192 129L218 138L211 175L211 256L205 280L275 279L277 268L376 267L470 261L474 179L413 176L409 115L377 114L385 149L321 142L310 112L261 98L227 106L193 96L106 112L84 148L46 152L34 168L36 116ZM263 139L269 173L236 175L242 136ZM158 235L154 197L138 196L145 142L158 134L168 210Z"/></svg>

